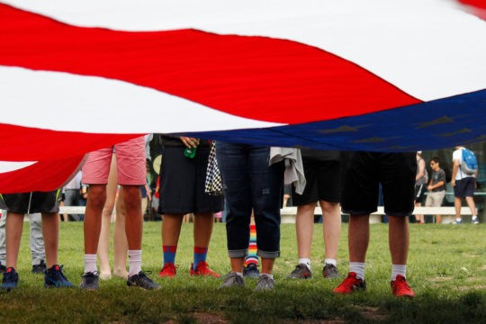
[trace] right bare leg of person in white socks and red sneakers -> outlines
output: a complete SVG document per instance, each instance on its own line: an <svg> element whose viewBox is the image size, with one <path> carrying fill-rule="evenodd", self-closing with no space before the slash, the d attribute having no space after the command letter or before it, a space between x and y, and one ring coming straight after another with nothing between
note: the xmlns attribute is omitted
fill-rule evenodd
<svg viewBox="0 0 486 324"><path fill-rule="evenodd" d="M409 256L409 220L407 217L388 216L388 242L393 265L406 265Z"/></svg>

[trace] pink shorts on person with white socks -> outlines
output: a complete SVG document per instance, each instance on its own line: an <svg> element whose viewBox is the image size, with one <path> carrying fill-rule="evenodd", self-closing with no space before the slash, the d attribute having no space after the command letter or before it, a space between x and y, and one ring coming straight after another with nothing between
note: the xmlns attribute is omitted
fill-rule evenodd
<svg viewBox="0 0 486 324"><path fill-rule="evenodd" d="M146 183L145 139L139 137L114 145L118 184ZM112 163L113 147L89 153L83 166L83 184L107 184Z"/></svg>

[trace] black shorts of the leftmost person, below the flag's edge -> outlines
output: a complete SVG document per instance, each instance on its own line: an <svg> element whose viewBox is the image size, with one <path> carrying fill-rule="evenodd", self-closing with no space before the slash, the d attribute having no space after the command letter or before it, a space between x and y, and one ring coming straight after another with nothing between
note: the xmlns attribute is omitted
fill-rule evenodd
<svg viewBox="0 0 486 324"><path fill-rule="evenodd" d="M61 194L60 189L43 193L7 193L2 194L7 211L14 213L58 212Z"/></svg>

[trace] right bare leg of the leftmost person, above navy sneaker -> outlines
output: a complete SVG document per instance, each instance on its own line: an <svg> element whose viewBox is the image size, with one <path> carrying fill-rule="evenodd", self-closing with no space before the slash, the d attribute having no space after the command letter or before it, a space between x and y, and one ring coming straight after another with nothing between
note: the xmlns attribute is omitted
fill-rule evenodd
<svg viewBox="0 0 486 324"><path fill-rule="evenodd" d="M42 213L42 237L47 267L58 265L59 214L57 212Z"/></svg>

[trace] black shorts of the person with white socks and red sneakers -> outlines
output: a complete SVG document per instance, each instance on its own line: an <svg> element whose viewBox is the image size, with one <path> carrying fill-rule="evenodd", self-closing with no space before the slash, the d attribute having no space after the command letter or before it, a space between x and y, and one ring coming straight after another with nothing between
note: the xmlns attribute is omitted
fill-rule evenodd
<svg viewBox="0 0 486 324"><path fill-rule="evenodd" d="M415 153L356 152L346 166L342 210L368 215L377 210L379 184L387 215L408 216L414 208Z"/></svg>

